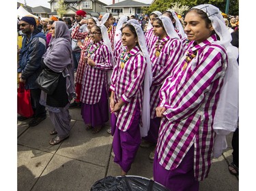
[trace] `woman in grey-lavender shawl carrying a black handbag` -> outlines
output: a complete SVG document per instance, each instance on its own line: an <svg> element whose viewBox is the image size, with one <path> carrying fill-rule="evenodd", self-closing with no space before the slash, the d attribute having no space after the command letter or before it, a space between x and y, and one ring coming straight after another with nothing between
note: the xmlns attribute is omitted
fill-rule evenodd
<svg viewBox="0 0 256 191"><path fill-rule="evenodd" d="M74 97L74 63L70 32L65 22L55 21L51 27L52 39L42 56L42 68L59 73L59 82L53 94L41 93L40 103L48 107L49 115L55 129L51 135L51 145L57 145L70 135L70 114L68 107Z"/></svg>

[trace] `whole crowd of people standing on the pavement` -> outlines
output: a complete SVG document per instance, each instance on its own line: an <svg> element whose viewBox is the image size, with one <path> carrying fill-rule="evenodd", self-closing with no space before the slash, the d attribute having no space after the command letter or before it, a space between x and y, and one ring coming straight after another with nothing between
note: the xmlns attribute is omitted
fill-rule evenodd
<svg viewBox="0 0 256 191"><path fill-rule="evenodd" d="M170 190L199 190L212 158L225 149L225 135L238 129L238 19L230 18L229 26L210 4L191 8L182 20L173 10L139 20L85 16L78 10L70 21L18 21L18 81L31 90L34 111L29 126L40 124L47 109L55 126L49 143L59 144L70 136L69 109L79 108L93 134L110 120L121 175L140 146L154 145L154 181ZM36 82L43 71L59 76L53 93ZM235 175L236 132L229 165Z"/></svg>

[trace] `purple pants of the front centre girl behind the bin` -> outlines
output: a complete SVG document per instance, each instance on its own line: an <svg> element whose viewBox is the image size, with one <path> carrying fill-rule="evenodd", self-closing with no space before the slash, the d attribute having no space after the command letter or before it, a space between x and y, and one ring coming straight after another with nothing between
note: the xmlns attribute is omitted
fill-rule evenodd
<svg viewBox="0 0 256 191"><path fill-rule="evenodd" d="M124 132L115 127L113 137L114 162L119 164L126 173L130 170L132 162L139 150L139 145L141 144L141 133L139 131L141 114L139 107L136 106L134 112L136 113L130 128ZM113 115L111 118L115 118L115 116Z"/></svg>

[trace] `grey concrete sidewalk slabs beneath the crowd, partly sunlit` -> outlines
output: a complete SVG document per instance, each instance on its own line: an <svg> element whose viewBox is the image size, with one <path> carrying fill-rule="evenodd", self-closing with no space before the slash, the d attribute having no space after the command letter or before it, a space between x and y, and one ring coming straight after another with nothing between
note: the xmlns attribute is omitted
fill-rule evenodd
<svg viewBox="0 0 256 191"><path fill-rule="evenodd" d="M85 130L80 109L70 109L72 131L59 145L48 142L53 124L49 116L38 126L18 122L18 191L89 191L91 186L106 176L118 176L121 170L111 156L113 137L106 133L109 123L98 134ZM213 160L207 179L201 181L200 191L236 191L238 177L227 169L231 162L231 137L228 148ZM148 159L153 147L139 148L128 175L152 178L152 161ZM173 190L175 191L175 190Z"/></svg>

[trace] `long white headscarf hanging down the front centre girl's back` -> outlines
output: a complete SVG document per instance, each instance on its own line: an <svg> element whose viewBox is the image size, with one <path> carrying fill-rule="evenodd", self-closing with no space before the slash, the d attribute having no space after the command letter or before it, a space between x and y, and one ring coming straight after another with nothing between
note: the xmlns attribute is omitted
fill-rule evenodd
<svg viewBox="0 0 256 191"><path fill-rule="evenodd" d="M141 29L141 26L134 22L134 19L128 20L129 24L135 28L137 37L139 40L139 47L141 48L141 52L143 56L146 58L147 67L145 71L144 77L144 89L143 89L143 103L142 103L142 123L143 126L140 126L141 137L146 137L147 132L150 129L150 86L152 84L152 69L151 69L151 61L150 55L147 52L147 46L145 41L145 35Z"/></svg>

